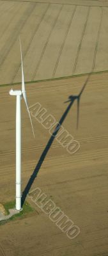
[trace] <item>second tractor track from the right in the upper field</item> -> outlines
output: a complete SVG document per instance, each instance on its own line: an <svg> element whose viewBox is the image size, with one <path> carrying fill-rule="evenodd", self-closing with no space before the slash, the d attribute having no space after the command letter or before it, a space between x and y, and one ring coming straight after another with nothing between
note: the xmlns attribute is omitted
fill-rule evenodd
<svg viewBox="0 0 108 256"><path fill-rule="evenodd" d="M89 12L91 10L91 7L89 6L88 7L88 13L87 13L87 17L86 17L86 22L84 23L84 28L83 28L83 31L82 31L82 35L81 35L81 40L79 42L79 48L77 50L77 55L76 55L76 58L75 58L75 63L73 65L73 72L72 74L75 74L75 68L77 66L77 61L78 61L78 58L79 58L79 52L81 51L81 45L82 45L82 40L83 40L83 37L84 37L84 33L86 31L86 26L87 26L87 23L88 23L88 18L89 18Z"/></svg>

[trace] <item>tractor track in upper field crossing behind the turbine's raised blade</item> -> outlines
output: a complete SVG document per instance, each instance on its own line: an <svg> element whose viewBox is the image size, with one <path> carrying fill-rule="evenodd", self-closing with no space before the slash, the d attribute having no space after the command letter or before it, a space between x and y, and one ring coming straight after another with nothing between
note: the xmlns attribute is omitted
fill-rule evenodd
<svg viewBox="0 0 108 256"><path fill-rule="evenodd" d="M36 26L33 35L31 36L31 40L30 40L29 44L27 45L27 49L26 49L26 51L25 51L25 53L24 53L24 56L23 56L23 62L24 62L24 59L26 58L27 52L29 52L29 49L30 49L30 47L31 47L31 43L33 42L33 38L35 37L36 32L38 31L38 28L40 28L40 24L42 23L42 21L43 21L43 19L44 19L44 17L45 17L45 14L46 14L47 11L49 10L49 6L50 6L50 4L48 4L48 6L47 6L46 9L45 9L45 12L43 12L42 17L41 17L40 21L38 22L38 25ZM35 6L35 8L36 8L36 6ZM34 10L34 8L33 8L33 10ZM21 64L19 65L19 67L17 68L17 71L15 72L14 76L12 77L12 83L13 83L13 81L15 80L15 77L17 76L17 73L19 72L20 66L21 66Z"/></svg>

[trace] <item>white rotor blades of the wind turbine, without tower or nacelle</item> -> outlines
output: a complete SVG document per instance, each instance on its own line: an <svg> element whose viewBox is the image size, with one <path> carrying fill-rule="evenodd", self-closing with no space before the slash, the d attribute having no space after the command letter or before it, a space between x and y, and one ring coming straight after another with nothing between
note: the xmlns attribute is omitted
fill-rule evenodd
<svg viewBox="0 0 108 256"><path fill-rule="evenodd" d="M20 42L20 38L19 38L19 42ZM30 122L31 122L31 127L32 127L32 131L33 131L33 136L35 138L35 132L34 132L34 129L33 129L33 123L32 123L32 120L31 120L31 115L30 115L30 112L29 112L29 108L27 106L27 98L26 98L26 90L25 90L25 83L24 83L24 71L23 71L23 62L22 62L22 47L21 47L21 42L20 42L20 57L21 57L21 69L22 69L22 96L24 97L24 101L26 103L26 108L27 108L27 111L29 113L29 119L30 119Z"/></svg>

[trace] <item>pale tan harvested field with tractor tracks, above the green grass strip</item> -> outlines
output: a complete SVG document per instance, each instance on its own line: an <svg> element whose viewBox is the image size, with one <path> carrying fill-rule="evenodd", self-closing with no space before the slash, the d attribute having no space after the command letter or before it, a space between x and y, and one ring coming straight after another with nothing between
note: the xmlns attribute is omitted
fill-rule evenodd
<svg viewBox="0 0 108 256"><path fill-rule="evenodd" d="M0 1L0 84L108 69L108 1Z"/></svg>

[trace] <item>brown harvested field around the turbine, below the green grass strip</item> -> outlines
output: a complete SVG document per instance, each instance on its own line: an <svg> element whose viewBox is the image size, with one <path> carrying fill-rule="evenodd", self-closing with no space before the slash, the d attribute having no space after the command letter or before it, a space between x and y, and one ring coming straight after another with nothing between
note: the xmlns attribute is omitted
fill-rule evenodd
<svg viewBox="0 0 108 256"><path fill-rule="evenodd" d="M22 101L22 191L35 168L38 175L30 191L42 189L77 225L81 232L70 240L65 233L36 205L36 213L24 220L10 222L0 228L0 252L6 256L96 256L108 254L108 179L107 179L107 95L108 73L92 74L81 95L79 129L77 100L66 102L81 92L87 76L46 81L26 85L29 106L39 102L47 113L62 125L80 148L69 154L56 138L50 147L49 130L34 117L35 140L29 116ZM13 88L19 88L14 86ZM15 197L15 98L9 95L11 86L0 88L1 179L0 202ZM74 98L73 98L74 97ZM65 103L66 102L66 103ZM64 115L65 113L65 115ZM41 158L47 147L47 154ZM41 159L41 164L38 161Z"/></svg>

